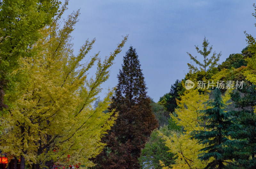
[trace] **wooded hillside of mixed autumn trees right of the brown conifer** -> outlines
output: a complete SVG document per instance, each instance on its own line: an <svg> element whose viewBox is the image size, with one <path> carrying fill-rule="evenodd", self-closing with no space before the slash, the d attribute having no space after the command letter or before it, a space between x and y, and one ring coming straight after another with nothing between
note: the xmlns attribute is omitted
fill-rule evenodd
<svg viewBox="0 0 256 169"><path fill-rule="evenodd" d="M205 42L209 43L204 40L203 46L207 44ZM256 103L256 90L253 85L255 80L250 79L253 74L248 76L251 72L255 73L253 58L255 58L255 51L252 46L249 46L245 47L241 53L230 54L225 62L212 68L209 68L211 66L209 64L208 69L204 69L207 63L195 64L194 67L190 67L190 71L183 79L176 80L170 86L170 92L160 97L158 102L152 101L152 110L159 120L160 127L152 132L145 148L141 151L139 158L141 166L144 168L168 168L168 166L170 168L214 166L217 168L254 168L256 144L244 142L244 140L255 139L252 135L255 132L255 113L251 114L255 111ZM191 59L199 63L195 58ZM218 58L215 59L218 60ZM196 69L196 66L203 69ZM188 79L195 83L193 89L186 90L185 83ZM200 81L205 81L205 89ZM212 86L206 89L208 81L210 85L214 83L213 89ZM221 81L226 83L226 86L221 86ZM242 81L244 82L243 89L240 89L239 85ZM229 87L227 82L230 82L232 87ZM237 89L236 82L238 82ZM214 94L216 88L220 89L221 97ZM216 106L212 104L214 100L217 102L216 97L221 99L223 103L221 106L226 115L215 120L227 122L225 125L222 124L221 149L218 147L219 143L211 141L216 138L215 134L213 136L210 133L220 124L213 121L212 117L209 118L209 114L205 114L208 110L213 110L211 107ZM212 101L209 103L208 100ZM245 131L246 135L242 136ZM215 148L209 148L207 147L209 144L217 145ZM224 149L223 146L227 148ZM248 146L248 148L244 150L243 146ZM218 153L220 151L222 153ZM214 152L217 155L213 154Z"/></svg>

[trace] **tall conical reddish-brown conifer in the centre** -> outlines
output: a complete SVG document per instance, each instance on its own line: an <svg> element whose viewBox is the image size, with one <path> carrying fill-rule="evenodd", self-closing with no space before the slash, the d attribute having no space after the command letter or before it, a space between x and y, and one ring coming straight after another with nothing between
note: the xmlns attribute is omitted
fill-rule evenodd
<svg viewBox="0 0 256 169"><path fill-rule="evenodd" d="M140 168L138 158L151 131L158 127L150 107L138 55L132 47L124 56L110 110L119 114L116 125L102 139L106 148L96 158L95 168Z"/></svg>

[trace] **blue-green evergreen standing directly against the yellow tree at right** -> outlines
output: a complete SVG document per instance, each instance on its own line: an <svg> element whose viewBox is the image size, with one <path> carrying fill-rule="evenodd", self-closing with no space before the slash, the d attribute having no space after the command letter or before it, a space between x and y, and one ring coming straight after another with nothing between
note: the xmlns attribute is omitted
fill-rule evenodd
<svg viewBox="0 0 256 169"><path fill-rule="evenodd" d="M204 161L213 158L205 168L221 169L225 168L225 163L228 163L225 147L228 141L227 128L231 124L231 118L230 114L224 111L225 104L222 101L220 89L216 88L213 94L214 99L206 102L207 106L212 108L202 110L203 115L200 116L202 120L206 120L206 130L194 131L191 135L199 143L206 145L205 148L201 149L205 152L198 158Z"/></svg>

